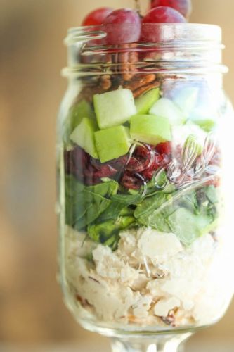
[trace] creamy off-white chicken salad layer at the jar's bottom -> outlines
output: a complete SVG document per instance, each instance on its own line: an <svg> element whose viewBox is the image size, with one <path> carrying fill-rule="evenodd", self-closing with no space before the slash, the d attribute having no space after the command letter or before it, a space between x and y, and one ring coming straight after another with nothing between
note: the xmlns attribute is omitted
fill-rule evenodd
<svg viewBox="0 0 234 352"><path fill-rule="evenodd" d="M188 327L218 320L230 301L225 253L212 234L181 245L150 227L120 232L117 251L65 230L69 301L105 327ZM223 262L224 260L224 262Z"/></svg>

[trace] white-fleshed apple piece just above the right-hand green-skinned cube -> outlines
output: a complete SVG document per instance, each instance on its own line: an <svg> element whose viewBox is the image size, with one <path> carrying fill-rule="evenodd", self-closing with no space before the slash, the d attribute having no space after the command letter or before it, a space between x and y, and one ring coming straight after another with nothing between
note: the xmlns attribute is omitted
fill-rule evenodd
<svg viewBox="0 0 234 352"><path fill-rule="evenodd" d="M182 125L186 117L176 104L167 98L161 98L150 108L150 114L167 118L172 126Z"/></svg>

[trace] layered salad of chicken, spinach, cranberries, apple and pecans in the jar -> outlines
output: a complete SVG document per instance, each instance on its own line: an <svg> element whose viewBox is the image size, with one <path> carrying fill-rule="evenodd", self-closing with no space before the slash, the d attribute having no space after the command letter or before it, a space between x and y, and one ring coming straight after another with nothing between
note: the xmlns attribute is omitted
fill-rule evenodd
<svg viewBox="0 0 234 352"><path fill-rule="evenodd" d="M183 21L156 6L143 23L160 22L159 9L164 22L175 13ZM135 11L105 11L104 24L124 14L141 24ZM86 81L65 120L67 301L78 319L104 327L207 325L230 299L217 279L225 260L219 114L204 78L139 72L142 58L125 43L117 70Z"/></svg>

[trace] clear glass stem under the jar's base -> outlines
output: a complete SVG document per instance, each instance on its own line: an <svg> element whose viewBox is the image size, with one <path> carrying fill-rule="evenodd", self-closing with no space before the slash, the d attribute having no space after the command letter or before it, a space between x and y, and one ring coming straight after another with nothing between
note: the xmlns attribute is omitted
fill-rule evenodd
<svg viewBox="0 0 234 352"><path fill-rule="evenodd" d="M112 339L112 352L184 352L184 342L188 337L190 334Z"/></svg>

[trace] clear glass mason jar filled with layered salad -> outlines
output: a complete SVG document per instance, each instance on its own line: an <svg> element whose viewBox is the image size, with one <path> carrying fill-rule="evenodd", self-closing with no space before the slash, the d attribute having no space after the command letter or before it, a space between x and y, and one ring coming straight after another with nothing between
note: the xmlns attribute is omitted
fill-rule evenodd
<svg viewBox="0 0 234 352"><path fill-rule="evenodd" d="M107 45L110 25L65 41L60 283L113 351L176 351L233 295L233 109L219 27L144 26L150 42Z"/></svg>

